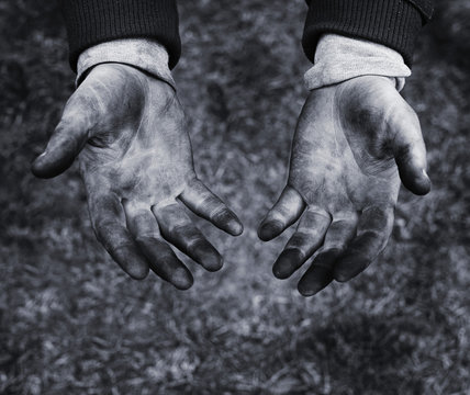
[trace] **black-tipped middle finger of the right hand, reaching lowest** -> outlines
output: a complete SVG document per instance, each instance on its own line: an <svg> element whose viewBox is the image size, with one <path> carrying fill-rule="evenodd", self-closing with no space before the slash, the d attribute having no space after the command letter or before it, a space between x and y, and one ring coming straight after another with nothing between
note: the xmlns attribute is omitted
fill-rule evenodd
<svg viewBox="0 0 470 395"><path fill-rule="evenodd" d="M333 221L326 232L322 251L299 281L298 290L302 295L313 296L334 280L334 264L356 235L357 223L356 213L348 213L340 219Z"/></svg>

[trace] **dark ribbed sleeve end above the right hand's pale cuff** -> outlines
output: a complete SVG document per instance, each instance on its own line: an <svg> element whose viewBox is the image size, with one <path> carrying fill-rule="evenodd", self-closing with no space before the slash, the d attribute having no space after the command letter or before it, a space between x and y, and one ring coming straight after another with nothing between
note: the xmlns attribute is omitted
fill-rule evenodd
<svg viewBox="0 0 470 395"><path fill-rule="evenodd" d="M416 36L430 19L430 0L306 0L302 46L314 60L323 33L337 33L387 45L411 66Z"/></svg>

